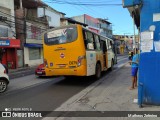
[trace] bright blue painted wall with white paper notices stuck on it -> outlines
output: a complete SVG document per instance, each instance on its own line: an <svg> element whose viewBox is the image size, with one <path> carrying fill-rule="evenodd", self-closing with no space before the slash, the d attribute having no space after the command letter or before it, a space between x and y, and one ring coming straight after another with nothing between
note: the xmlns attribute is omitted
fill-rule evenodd
<svg viewBox="0 0 160 120"><path fill-rule="evenodd" d="M153 41L149 33L141 35L138 103L160 105L160 0L143 0L140 18L141 34L153 30ZM145 49L142 48L144 43ZM147 49L147 46L152 47Z"/></svg>

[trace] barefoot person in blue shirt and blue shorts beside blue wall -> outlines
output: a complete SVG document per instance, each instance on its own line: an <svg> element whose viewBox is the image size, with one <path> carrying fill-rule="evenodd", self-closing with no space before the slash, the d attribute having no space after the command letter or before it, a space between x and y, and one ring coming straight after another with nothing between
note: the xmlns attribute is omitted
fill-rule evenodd
<svg viewBox="0 0 160 120"><path fill-rule="evenodd" d="M134 55L132 61L129 61L131 63L131 76L132 76L132 86L130 87L130 90L133 90L135 87L137 87L137 72L139 64L139 54L136 48L133 50L133 54Z"/></svg>

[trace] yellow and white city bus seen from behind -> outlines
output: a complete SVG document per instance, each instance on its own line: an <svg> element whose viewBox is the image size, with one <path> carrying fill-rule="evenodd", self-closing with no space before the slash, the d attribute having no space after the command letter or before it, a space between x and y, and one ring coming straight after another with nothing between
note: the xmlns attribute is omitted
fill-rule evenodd
<svg viewBox="0 0 160 120"><path fill-rule="evenodd" d="M81 25L69 25L44 33L46 75L101 77L114 65L113 40Z"/></svg>

